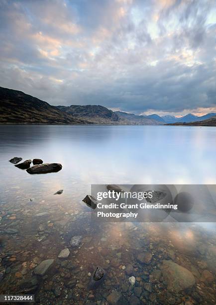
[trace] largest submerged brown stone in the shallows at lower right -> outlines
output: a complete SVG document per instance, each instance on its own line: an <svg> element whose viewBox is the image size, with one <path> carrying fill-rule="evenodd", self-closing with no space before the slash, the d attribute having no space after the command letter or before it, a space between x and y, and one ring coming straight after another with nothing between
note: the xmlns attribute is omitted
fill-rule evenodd
<svg viewBox="0 0 216 305"><path fill-rule="evenodd" d="M195 285L194 275L186 268L172 262L163 261L161 271L168 291L178 293Z"/></svg>

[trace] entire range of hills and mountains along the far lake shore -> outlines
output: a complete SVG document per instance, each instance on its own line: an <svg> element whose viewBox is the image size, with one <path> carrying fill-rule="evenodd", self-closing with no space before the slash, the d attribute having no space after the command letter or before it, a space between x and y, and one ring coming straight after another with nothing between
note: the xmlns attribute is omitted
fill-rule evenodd
<svg viewBox="0 0 216 305"><path fill-rule="evenodd" d="M134 115L111 111L100 105L51 106L21 91L0 87L0 124L111 124L111 125L210 125L216 126L216 113L201 117Z"/></svg>

